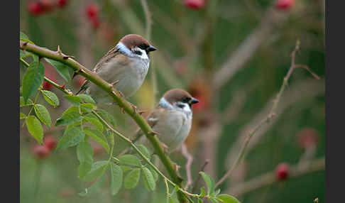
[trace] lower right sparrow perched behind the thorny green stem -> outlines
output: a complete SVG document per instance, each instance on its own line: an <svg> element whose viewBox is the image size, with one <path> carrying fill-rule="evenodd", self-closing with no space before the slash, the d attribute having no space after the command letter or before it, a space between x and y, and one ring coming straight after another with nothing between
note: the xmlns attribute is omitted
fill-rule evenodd
<svg viewBox="0 0 345 203"><path fill-rule="evenodd" d="M167 153L179 149L187 138L192 126L192 105L198 102L183 89L170 89L148 115L146 120ZM138 143L147 146L148 140L141 136Z"/></svg>

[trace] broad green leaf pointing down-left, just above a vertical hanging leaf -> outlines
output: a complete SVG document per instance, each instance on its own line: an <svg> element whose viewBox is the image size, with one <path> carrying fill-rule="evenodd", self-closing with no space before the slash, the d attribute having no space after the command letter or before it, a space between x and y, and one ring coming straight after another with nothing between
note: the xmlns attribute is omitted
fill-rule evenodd
<svg viewBox="0 0 345 203"><path fill-rule="evenodd" d="M59 143L57 143L56 150L77 146L84 140L84 136L85 134L80 127L66 129Z"/></svg>

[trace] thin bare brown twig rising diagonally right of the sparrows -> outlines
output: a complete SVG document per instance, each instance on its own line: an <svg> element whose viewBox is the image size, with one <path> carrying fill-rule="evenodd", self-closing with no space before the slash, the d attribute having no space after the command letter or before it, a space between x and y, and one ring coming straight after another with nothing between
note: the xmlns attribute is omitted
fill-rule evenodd
<svg viewBox="0 0 345 203"><path fill-rule="evenodd" d="M221 182L224 182L224 180L226 180L227 177L229 177L229 175L231 175L231 172L234 171L234 169L239 165L239 163L241 163L241 160L243 158L244 152L248 146L249 141L251 141L251 137L256 133L256 131L258 131L259 128L261 128L261 126L263 126L263 124L268 123L273 116L275 116L275 109L278 106L278 103L280 101L280 98L284 92L285 87L288 85L288 79L290 78L293 70L295 70L295 56L297 51L300 50L300 40L297 40L296 45L295 45L295 50L292 51L291 53L291 65L290 65L290 69L288 71L288 74L284 77L283 80L283 84L280 87L280 91L278 92L277 96L275 97L275 100L273 102L273 106L270 109L270 113L268 114L268 116L266 116L256 127L254 127L249 133L248 136L246 137L246 141L244 142L239 155L237 156L234 164L231 166L230 170L228 170L225 175L223 177L221 177L221 179L216 183L216 186L219 186L221 184Z"/></svg>

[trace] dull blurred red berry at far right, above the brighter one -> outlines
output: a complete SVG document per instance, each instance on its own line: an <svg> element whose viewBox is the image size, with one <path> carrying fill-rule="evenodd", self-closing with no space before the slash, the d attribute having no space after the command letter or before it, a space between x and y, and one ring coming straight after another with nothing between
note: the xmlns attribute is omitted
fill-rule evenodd
<svg viewBox="0 0 345 203"><path fill-rule="evenodd" d="M297 133L297 143L300 148L307 149L317 145L319 133L314 128L302 128Z"/></svg>

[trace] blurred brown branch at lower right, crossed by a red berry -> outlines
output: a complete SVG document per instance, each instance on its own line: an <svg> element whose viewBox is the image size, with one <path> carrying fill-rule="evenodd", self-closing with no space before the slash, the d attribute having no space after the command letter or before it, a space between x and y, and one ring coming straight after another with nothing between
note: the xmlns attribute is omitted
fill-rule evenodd
<svg viewBox="0 0 345 203"><path fill-rule="evenodd" d="M302 175L306 175L308 173L316 172L320 170L324 170L324 158L313 160L310 163L310 165L308 165L306 168L299 168L298 165L292 166L290 168L288 178L290 179L290 178L300 177ZM261 188L261 187L272 185L278 181L279 180L277 180L275 176L275 171L273 170L271 172L267 172L258 177L254 177L253 179L248 180L247 182L243 182L234 187L230 187L227 192L235 195L236 197L239 197L242 194L246 194L253 190L257 190L258 188Z"/></svg>

